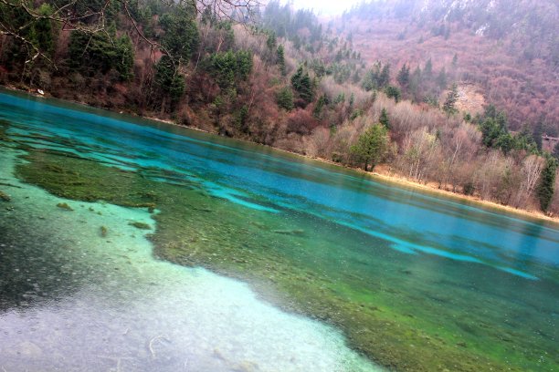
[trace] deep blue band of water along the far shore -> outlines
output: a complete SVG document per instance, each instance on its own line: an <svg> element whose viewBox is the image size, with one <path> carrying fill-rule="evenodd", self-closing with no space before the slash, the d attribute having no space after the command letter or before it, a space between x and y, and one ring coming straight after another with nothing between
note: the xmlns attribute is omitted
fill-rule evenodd
<svg viewBox="0 0 559 372"><path fill-rule="evenodd" d="M166 170L160 181L194 182L210 194L269 212L310 212L392 243L409 254L489 264L538 279L559 264L559 230L406 190L392 184L241 141L94 109L0 94L9 133L36 148L71 151L122 169ZM149 171L147 171L149 176ZM163 177L163 179L162 179Z"/></svg>

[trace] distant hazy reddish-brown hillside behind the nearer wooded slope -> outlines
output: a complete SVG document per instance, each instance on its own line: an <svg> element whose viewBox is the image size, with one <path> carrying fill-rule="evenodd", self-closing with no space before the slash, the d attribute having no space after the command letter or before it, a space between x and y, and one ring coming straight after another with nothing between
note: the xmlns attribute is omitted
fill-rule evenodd
<svg viewBox="0 0 559 372"><path fill-rule="evenodd" d="M445 68L504 109L513 130L559 129L559 4L554 0L404 0L364 3L332 25L370 63ZM439 93L439 92L434 92ZM417 100L424 99L421 93Z"/></svg>

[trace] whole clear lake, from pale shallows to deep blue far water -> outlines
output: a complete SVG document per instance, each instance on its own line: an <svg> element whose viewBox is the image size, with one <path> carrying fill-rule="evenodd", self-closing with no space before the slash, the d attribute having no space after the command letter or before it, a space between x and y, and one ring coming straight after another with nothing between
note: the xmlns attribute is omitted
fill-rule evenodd
<svg viewBox="0 0 559 372"><path fill-rule="evenodd" d="M0 147L0 191L11 197L0 202L8 371L379 368L369 359L409 370L559 366L554 224L100 110L0 93L0 120L13 140ZM228 233L215 213L177 214L211 254L192 253L195 268L157 259L129 224L155 227L157 243L157 214L62 200L18 180L22 145L196 191L206 198L190 197L196 211L218 209ZM229 258L243 257L245 235L258 265L242 272ZM281 266L281 278L265 264ZM453 365L457 357L465 361Z"/></svg>

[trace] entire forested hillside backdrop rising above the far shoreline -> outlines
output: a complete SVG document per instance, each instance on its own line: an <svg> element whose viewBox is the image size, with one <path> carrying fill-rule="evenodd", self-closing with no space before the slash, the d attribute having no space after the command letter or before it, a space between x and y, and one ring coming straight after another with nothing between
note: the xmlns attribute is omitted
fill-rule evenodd
<svg viewBox="0 0 559 372"><path fill-rule="evenodd" d="M556 33L530 49L501 37L490 15L444 13L449 2L376 2L322 22L277 1L10 1L0 4L2 84L559 212L559 149L541 144L559 115ZM537 9L553 19L549 4ZM438 47L459 37L482 37L478 54ZM488 55L494 64L476 57L491 46L504 50ZM514 69L528 63L514 47L532 72ZM482 109L459 105L464 82L485 87Z"/></svg>

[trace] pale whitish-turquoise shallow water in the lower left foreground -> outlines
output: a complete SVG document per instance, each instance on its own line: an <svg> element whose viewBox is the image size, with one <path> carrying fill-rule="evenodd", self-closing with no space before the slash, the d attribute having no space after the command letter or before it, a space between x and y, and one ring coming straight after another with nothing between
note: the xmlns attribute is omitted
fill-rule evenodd
<svg viewBox="0 0 559 372"><path fill-rule="evenodd" d="M17 181L16 153L0 148L14 206L0 212L2 370L379 370L339 331L281 312L246 284L154 259L129 224L153 225L148 212Z"/></svg>

